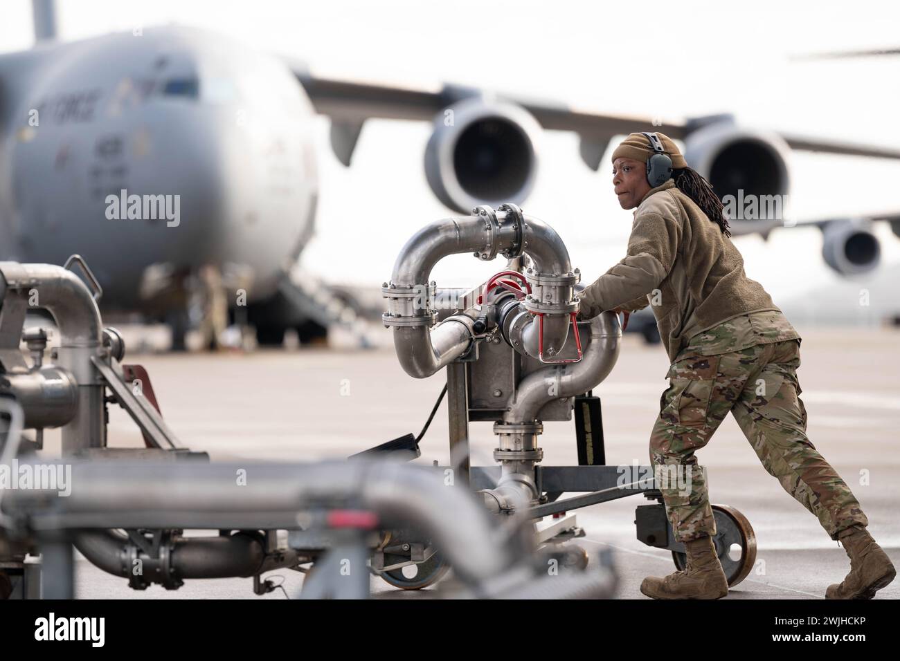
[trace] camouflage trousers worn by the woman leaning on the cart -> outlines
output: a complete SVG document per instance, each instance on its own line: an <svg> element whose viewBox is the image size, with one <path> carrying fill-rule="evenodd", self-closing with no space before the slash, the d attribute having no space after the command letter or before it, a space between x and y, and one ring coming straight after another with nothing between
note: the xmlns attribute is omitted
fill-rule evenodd
<svg viewBox="0 0 900 661"><path fill-rule="evenodd" d="M800 400L800 343L756 344L705 356L683 351L669 371L660 415L650 439L650 460L664 476L684 471L689 481L661 484L666 513L679 541L716 534L706 471L694 452L709 442L729 411L762 465L837 539L838 532L869 521L841 476L806 438Z"/></svg>

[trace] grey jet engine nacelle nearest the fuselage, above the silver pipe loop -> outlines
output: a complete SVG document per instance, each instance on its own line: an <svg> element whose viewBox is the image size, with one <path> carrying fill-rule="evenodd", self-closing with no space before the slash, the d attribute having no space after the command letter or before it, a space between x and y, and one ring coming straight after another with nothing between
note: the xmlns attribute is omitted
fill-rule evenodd
<svg viewBox="0 0 900 661"><path fill-rule="evenodd" d="M525 201L535 184L541 128L514 103L465 99L437 114L425 174L437 199L469 213Z"/></svg>

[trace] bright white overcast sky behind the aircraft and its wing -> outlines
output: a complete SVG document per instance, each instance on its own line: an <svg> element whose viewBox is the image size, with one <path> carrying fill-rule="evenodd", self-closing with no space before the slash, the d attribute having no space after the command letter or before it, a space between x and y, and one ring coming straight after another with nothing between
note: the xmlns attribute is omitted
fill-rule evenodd
<svg viewBox="0 0 900 661"><path fill-rule="evenodd" d="M900 149L900 56L795 61L792 55L900 46L900 9L876 2L116 2L59 3L63 40L157 24L200 26L259 49L306 60L314 71L405 83L443 81L545 96L575 106L643 115L734 112L744 124ZM734 7L734 8L733 8ZM651 18L653 19L651 21ZM5 0L0 51L33 43L31 2ZM428 126L370 121L354 165L339 165L318 119L318 234L303 263L329 278L377 283L421 225L453 215L422 170ZM592 281L624 255L632 214L612 193L608 157L599 173L578 141L546 133L535 192L523 205L562 234ZM900 164L797 154L791 203L797 219L900 210ZM365 210L365 217L359 217ZM877 229L885 264L900 239ZM352 237L352 240L347 240ZM736 241L748 274L776 302L836 283L821 233L782 229L768 243ZM482 281L500 264L446 260L438 285ZM882 275L884 272L882 272ZM860 287L876 276L860 279ZM894 303L900 308L900 294ZM873 301L873 305L876 301Z"/></svg>

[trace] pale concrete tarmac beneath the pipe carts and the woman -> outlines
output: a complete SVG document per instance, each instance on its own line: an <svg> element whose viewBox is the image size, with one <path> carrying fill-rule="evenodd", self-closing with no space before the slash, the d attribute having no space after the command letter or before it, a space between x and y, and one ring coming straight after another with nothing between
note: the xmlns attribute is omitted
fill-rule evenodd
<svg viewBox="0 0 900 661"><path fill-rule="evenodd" d="M900 566L900 332L804 329L798 377L815 447L851 486L869 517L869 531ZM385 338L389 332L384 331ZM311 461L343 458L404 433L418 433L445 382L443 371L427 380L407 376L392 348L368 351L325 348L257 353L130 355L148 368L163 415L184 444L212 460ZM647 464L648 438L666 388L669 361L660 345L626 335L617 365L595 394L602 398L609 464ZM110 444L141 445L130 418L111 409ZM491 424L470 424L473 464L492 465ZM446 465L446 403L421 442L421 463ZM52 436L49 438L52 444ZM575 465L574 424L546 423L541 442L546 465ZM828 538L812 514L762 468L749 442L729 416L707 448L713 503L731 505L752 523L758 562L728 599L824 598L850 568L842 547ZM565 496L563 496L565 497ZM635 539L631 496L576 511L593 551L614 551L617 596L645 598L644 576L674 571L671 554ZM302 574L268 577L296 594ZM433 589L397 590L372 578L376 596L428 598ZM257 597L251 580L188 581L176 592L154 586L131 591L83 558L77 562L76 595L96 598L284 598ZM900 581L878 598L900 596Z"/></svg>

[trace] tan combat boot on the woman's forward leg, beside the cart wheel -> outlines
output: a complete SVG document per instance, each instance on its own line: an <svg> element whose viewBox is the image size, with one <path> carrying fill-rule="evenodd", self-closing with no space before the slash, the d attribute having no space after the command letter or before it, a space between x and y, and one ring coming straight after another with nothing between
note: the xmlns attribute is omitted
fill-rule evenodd
<svg viewBox="0 0 900 661"><path fill-rule="evenodd" d="M728 579L716 558L713 538L686 541L688 562L682 571L665 578L647 576L641 592L653 599L720 599L728 594Z"/></svg>

